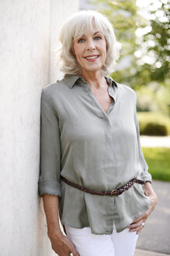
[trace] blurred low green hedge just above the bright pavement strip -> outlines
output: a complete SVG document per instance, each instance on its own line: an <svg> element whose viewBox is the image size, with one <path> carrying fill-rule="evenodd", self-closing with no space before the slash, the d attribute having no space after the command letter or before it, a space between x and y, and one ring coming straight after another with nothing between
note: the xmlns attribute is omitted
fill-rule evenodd
<svg viewBox="0 0 170 256"><path fill-rule="evenodd" d="M137 112L141 135L170 135L170 119L155 112Z"/></svg>

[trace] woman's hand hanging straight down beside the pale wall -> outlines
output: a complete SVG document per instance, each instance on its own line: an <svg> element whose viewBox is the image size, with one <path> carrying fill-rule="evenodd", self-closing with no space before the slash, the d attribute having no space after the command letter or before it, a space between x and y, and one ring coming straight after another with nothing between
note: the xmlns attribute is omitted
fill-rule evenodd
<svg viewBox="0 0 170 256"><path fill-rule="evenodd" d="M75 250L75 246L71 243L71 240L67 236L64 236L63 233L48 233L50 238L50 243L52 249L58 256L70 256L72 253L73 256L80 256Z"/></svg>

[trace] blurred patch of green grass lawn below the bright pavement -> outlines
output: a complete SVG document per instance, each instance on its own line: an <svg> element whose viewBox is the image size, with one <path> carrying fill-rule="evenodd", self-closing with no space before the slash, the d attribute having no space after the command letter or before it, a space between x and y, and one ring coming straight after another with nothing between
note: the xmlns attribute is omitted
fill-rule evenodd
<svg viewBox="0 0 170 256"><path fill-rule="evenodd" d="M170 181L170 148L142 148L153 180Z"/></svg>

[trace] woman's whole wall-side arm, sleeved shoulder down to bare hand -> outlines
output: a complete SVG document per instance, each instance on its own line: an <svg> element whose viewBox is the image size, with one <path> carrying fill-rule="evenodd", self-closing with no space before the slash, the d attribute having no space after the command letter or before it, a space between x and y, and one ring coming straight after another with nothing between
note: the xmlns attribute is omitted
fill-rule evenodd
<svg viewBox="0 0 170 256"><path fill-rule="evenodd" d="M68 256L71 252L74 256L79 256L71 240L61 232L59 224L58 197L62 196L61 140L57 112L50 102L50 90L50 87L44 88L41 95L39 194L43 197L47 234L53 250L58 256Z"/></svg>

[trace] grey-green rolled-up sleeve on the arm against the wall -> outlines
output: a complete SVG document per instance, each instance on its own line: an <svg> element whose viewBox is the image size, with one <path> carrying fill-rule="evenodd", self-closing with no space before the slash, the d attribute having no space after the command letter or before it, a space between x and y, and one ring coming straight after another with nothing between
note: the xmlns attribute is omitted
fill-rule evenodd
<svg viewBox="0 0 170 256"><path fill-rule="evenodd" d="M40 178L39 194L61 197L61 142L57 113L43 89L40 108Z"/></svg>

